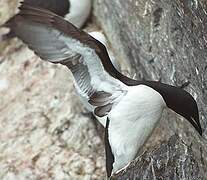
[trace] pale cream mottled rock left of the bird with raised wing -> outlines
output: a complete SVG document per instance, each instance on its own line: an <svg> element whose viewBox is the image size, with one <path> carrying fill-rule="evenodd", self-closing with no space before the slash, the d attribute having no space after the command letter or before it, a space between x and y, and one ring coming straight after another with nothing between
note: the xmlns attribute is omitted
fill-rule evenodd
<svg viewBox="0 0 207 180"><path fill-rule="evenodd" d="M17 1L0 1L0 22ZM0 44L0 179L104 179L104 147L63 66Z"/></svg>

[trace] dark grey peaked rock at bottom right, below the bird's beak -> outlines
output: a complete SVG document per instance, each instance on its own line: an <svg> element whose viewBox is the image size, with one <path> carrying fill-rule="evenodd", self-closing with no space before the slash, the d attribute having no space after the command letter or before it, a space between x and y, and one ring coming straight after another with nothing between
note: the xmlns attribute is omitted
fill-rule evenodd
<svg viewBox="0 0 207 180"><path fill-rule="evenodd" d="M201 180L204 177L200 175L199 162L192 147L174 135L155 150L138 157L126 172L121 172L111 179Z"/></svg>

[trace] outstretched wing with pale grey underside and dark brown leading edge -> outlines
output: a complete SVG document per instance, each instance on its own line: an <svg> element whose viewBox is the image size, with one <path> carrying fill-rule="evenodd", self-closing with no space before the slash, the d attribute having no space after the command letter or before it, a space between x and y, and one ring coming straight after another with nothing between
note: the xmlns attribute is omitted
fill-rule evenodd
<svg viewBox="0 0 207 180"><path fill-rule="evenodd" d="M105 116L125 93L124 85L107 73L116 72L105 46L87 33L50 11L25 3L13 23L16 36L41 59L71 70L79 94L88 99L96 115Z"/></svg>

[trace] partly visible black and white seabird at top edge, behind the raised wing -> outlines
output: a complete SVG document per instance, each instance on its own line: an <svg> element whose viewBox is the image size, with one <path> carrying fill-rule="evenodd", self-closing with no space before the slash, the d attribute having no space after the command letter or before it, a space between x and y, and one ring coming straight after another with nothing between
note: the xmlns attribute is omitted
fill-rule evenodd
<svg viewBox="0 0 207 180"><path fill-rule="evenodd" d="M91 11L91 0L24 0L24 3L32 7L39 7L47 9L59 16L64 17L67 21L72 23L78 28L81 28ZM15 37L13 29L15 27L9 27L8 24L15 18L15 15L10 18L5 24L0 27L9 28L7 34L0 36L0 40L8 40Z"/></svg>

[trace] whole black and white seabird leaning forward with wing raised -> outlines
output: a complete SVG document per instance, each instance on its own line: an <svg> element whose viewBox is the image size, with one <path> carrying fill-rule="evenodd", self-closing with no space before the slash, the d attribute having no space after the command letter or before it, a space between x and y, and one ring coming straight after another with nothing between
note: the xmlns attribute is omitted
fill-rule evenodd
<svg viewBox="0 0 207 180"><path fill-rule="evenodd" d="M131 162L164 108L186 118L202 135L194 98L181 88L122 75L105 46L54 13L23 3L15 34L41 59L70 69L77 91L105 126L107 175Z"/></svg>

